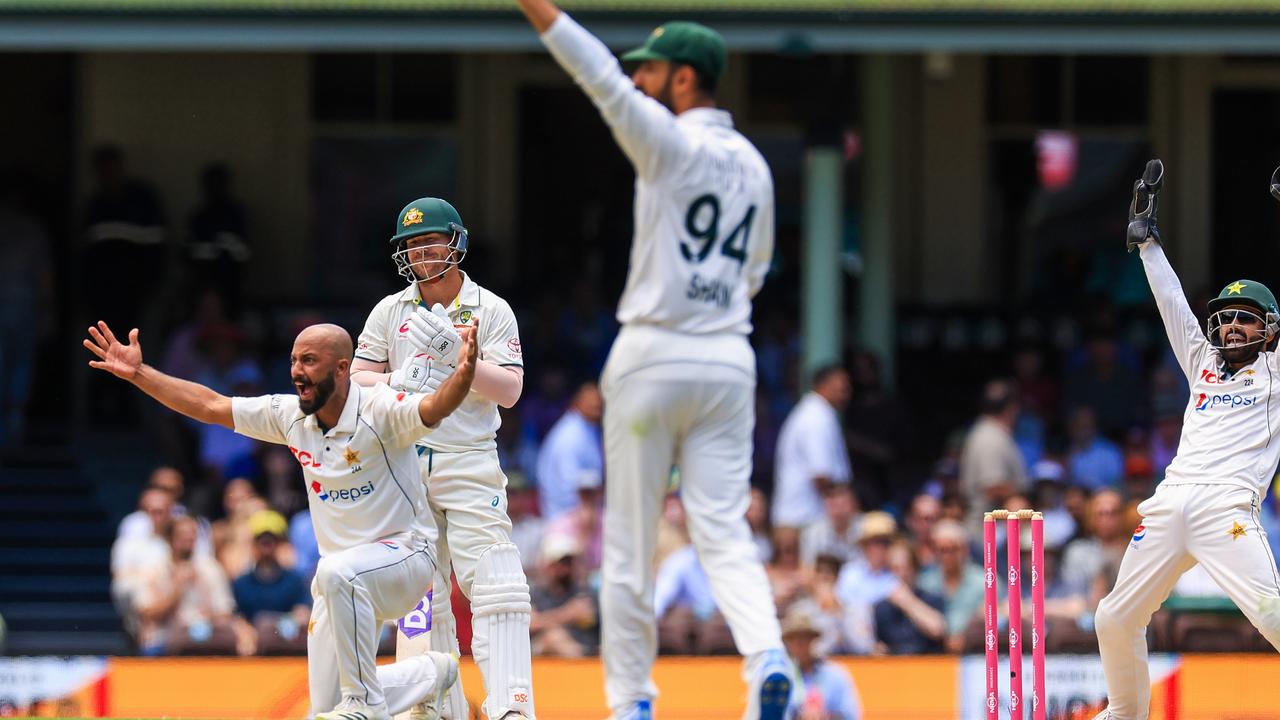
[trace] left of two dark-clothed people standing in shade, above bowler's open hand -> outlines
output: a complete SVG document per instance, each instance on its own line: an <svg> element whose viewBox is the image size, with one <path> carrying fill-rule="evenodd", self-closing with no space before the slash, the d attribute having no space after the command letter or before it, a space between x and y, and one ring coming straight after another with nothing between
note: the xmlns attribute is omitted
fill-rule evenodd
<svg viewBox="0 0 1280 720"><path fill-rule="evenodd" d="M165 220L151 186L127 176L124 154L99 146L90 160L92 188L84 208L86 266L111 278L111 292L92 293L93 319L113 328L145 327L164 278ZM136 393L125 383L93 375L93 419L120 425L136 418Z"/></svg>

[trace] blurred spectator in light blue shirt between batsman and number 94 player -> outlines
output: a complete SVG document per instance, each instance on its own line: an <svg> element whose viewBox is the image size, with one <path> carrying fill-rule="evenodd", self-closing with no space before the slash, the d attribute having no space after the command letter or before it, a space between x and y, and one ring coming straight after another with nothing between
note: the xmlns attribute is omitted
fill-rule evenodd
<svg viewBox="0 0 1280 720"><path fill-rule="evenodd" d="M552 425L538 454L538 500L543 520L579 506L580 487L600 487L604 447L600 416L604 400L595 383L582 383L568 410Z"/></svg>

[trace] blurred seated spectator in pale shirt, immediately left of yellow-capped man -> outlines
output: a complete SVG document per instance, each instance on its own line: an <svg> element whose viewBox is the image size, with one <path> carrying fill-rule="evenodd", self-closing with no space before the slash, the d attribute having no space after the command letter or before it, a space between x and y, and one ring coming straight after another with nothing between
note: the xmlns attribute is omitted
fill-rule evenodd
<svg viewBox="0 0 1280 720"><path fill-rule="evenodd" d="M191 518L169 525L169 556L147 573L134 598L143 655L236 650L230 585L211 557L195 552L196 529Z"/></svg>

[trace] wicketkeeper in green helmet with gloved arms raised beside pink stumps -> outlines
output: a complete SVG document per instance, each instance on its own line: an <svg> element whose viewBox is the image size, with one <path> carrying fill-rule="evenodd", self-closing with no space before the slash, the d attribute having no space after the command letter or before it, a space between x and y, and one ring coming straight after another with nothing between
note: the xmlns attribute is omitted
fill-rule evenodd
<svg viewBox="0 0 1280 720"><path fill-rule="evenodd" d="M1139 247L1179 366L1190 383L1178 455L1098 605L1107 678L1098 719L1146 719L1151 706L1147 624L1178 578L1199 562L1272 646L1280 648L1280 583L1258 505L1280 462L1280 307L1260 282L1235 281L1210 300L1204 331L1165 259L1156 228L1158 160L1134 190L1129 249ZM1207 337L1206 337L1207 336Z"/></svg>

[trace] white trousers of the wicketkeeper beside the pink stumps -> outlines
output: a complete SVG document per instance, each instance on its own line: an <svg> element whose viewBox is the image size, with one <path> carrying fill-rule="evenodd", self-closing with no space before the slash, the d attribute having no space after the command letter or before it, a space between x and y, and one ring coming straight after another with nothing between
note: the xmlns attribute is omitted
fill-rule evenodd
<svg viewBox="0 0 1280 720"><path fill-rule="evenodd" d="M1094 618L1116 720L1146 720L1151 711L1147 624L1197 562L1280 648L1280 577L1258 521L1260 500L1230 486L1160 486L1138 506L1142 527Z"/></svg>

